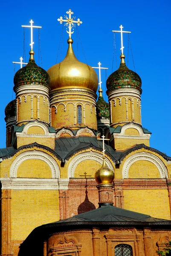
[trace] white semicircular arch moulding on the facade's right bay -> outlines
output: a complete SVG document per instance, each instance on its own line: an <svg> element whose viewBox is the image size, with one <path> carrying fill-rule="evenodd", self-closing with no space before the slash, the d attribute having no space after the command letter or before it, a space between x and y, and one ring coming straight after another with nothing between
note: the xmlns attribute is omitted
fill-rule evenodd
<svg viewBox="0 0 171 256"><path fill-rule="evenodd" d="M162 160L160 160L159 157L157 157L154 154L148 153L148 152L139 152L139 153L136 153L136 154L128 157L128 159L125 161L123 169L122 169L122 178L123 179L129 177L128 172L129 172L130 166L139 160L145 160L145 161L154 163L154 165L159 170L161 179L165 179L168 177L168 170L165 167Z"/></svg>

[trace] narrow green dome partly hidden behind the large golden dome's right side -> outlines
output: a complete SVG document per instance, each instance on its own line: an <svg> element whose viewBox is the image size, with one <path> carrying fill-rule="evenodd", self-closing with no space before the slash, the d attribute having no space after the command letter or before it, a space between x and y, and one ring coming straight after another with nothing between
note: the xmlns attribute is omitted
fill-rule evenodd
<svg viewBox="0 0 171 256"><path fill-rule="evenodd" d="M109 119L109 103L105 102L102 96L102 90L99 89L99 99L96 102L97 106L97 119Z"/></svg>

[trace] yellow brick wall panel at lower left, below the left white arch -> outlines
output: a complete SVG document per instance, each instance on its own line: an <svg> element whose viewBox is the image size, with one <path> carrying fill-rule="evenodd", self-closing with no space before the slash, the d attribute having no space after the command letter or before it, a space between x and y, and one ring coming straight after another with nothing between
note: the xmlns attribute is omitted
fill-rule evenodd
<svg viewBox="0 0 171 256"><path fill-rule="evenodd" d="M12 190L11 238L24 240L42 224L59 220L58 190Z"/></svg>

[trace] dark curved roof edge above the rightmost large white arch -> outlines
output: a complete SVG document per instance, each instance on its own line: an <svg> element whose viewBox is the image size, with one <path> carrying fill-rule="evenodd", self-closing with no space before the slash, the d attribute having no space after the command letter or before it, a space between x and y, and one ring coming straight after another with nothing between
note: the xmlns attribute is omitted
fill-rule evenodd
<svg viewBox="0 0 171 256"><path fill-rule="evenodd" d="M141 148L145 148L145 149L148 149L149 151L151 152L155 152L157 154L159 154L160 156L162 156L166 161L171 161L171 157L167 156L166 154L160 152L159 150L155 149L155 148L151 148L151 147L148 147L144 144L139 144L139 145L135 145L133 146L132 148L128 148L127 150L123 151L122 154L120 155L119 157L119 160L122 161L125 156L127 156L128 154L130 154L131 152L135 151L135 150L138 150L138 149L141 149Z"/></svg>

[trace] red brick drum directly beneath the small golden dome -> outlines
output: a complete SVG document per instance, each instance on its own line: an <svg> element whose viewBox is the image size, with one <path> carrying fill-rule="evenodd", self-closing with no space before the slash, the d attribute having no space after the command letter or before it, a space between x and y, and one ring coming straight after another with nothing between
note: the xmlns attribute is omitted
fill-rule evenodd
<svg viewBox="0 0 171 256"><path fill-rule="evenodd" d="M99 190L99 207L105 205L113 206L113 184L99 184L97 189Z"/></svg>

